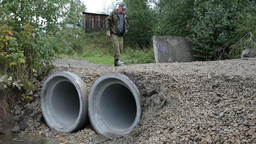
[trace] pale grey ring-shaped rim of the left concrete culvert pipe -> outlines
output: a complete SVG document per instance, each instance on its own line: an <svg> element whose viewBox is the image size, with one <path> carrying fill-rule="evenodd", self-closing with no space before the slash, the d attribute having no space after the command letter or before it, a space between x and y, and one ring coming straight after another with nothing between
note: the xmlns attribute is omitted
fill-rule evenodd
<svg viewBox="0 0 256 144"><path fill-rule="evenodd" d="M63 80L56 80L59 77L63 77ZM53 82L56 80L55 82ZM50 99L52 99L52 92L55 86L61 82L69 82L73 84L78 92L79 96L79 114L76 120L69 126L59 125L59 122L54 119L54 114L52 113L52 105ZM53 87L50 87L53 86ZM42 86L40 103L41 103L41 111L44 117L46 124L59 132L69 133L75 132L81 128L83 128L88 119L87 115L87 86L83 82L83 80L72 72L55 72L50 75L46 80L44 85ZM63 128L61 128L63 127ZM67 127L67 128L66 128Z"/></svg>

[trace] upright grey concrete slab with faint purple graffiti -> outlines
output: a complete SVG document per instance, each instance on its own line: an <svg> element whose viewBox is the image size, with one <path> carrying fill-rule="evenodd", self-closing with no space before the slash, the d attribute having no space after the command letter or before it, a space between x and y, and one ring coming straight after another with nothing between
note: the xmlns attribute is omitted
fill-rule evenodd
<svg viewBox="0 0 256 144"><path fill-rule="evenodd" d="M197 61L191 46L192 43L185 37L153 36L155 62Z"/></svg>

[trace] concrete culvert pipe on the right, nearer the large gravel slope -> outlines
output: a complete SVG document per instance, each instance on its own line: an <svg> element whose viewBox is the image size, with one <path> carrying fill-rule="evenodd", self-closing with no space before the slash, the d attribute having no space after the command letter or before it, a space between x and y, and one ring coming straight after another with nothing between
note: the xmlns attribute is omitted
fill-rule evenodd
<svg viewBox="0 0 256 144"><path fill-rule="evenodd" d="M99 77L88 95L88 114L94 130L112 138L131 132L142 113L139 90L125 75Z"/></svg>

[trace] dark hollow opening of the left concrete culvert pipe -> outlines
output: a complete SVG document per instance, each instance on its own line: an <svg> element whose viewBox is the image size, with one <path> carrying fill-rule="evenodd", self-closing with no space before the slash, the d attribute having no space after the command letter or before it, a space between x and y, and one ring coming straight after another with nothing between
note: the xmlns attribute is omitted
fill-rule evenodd
<svg viewBox="0 0 256 144"><path fill-rule="evenodd" d="M80 101L74 84L62 81L56 84L52 91L52 114L54 121L60 127L72 125L78 118Z"/></svg>

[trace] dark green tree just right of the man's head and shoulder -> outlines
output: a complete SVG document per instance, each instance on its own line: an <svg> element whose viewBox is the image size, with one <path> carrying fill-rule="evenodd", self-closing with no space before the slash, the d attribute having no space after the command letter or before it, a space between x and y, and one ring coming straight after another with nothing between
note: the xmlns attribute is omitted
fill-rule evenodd
<svg viewBox="0 0 256 144"><path fill-rule="evenodd" d="M124 0L128 10L129 30L127 38L139 46L150 45L154 35L153 29L156 22L156 13L150 8L148 0Z"/></svg>

